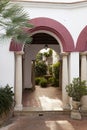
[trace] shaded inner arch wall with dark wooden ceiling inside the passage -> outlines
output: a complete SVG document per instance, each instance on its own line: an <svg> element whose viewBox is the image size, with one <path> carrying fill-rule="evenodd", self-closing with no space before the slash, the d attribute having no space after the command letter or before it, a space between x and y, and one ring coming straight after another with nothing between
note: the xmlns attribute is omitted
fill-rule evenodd
<svg viewBox="0 0 87 130"><path fill-rule="evenodd" d="M52 48L60 55L60 45L58 41L49 34L36 33L33 36L31 45L25 45L23 55L23 88L31 88L31 68L32 61L36 59L36 54L44 48L45 45ZM61 56L60 56L61 57Z"/></svg>

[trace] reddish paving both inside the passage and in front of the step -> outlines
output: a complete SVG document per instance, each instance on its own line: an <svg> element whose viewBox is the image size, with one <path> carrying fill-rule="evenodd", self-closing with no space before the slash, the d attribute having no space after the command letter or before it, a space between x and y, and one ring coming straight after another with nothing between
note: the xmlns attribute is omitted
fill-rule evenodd
<svg viewBox="0 0 87 130"><path fill-rule="evenodd" d="M58 88L37 87L33 93L26 91L23 96L25 96L23 98L25 107L40 107L40 110L51 110L52 112L42 111L43 114L36 112L26 116L14 116L5 122L0 130L87 130L87 117L73 120L69 114L55 112L55 108L56 110L62 109L61 91ZM43 100L40 100L41 98ZM32 113L32 111L30 112Z"/></svg>

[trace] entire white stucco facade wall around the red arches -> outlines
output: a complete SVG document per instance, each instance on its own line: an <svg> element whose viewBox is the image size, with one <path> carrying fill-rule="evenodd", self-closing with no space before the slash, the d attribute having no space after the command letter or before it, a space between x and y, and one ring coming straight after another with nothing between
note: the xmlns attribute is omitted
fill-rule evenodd
<svg viewBox="0 0 87 130"><path fill-rule="evenodd" d="M71 33L74 44L76 45L77 38L82 29L87 24L87 3L85 4L50 4L50 3L32 3L18 2L29 13L30 19L37 17L47 17L57 20L63 24ZM9 52L10 40L0 41L0 85L4 86L7 83L14 86L14 53ZM79 56L71 54L70 69L71 80L73 76L79 74L75 72L71 63L77 61L75 68L78 68ZM76 63L76 62L75 62ZM79 69L79 68L78 68ZM75 73L74 73L75 72Z"/></svg>

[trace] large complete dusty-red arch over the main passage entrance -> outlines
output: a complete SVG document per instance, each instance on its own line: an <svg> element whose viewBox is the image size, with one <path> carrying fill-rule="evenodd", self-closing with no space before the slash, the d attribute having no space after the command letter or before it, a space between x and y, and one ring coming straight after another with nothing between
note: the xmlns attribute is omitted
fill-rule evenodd
<svg viewBox="0 0 87 130"><path fill-rule="evenodd" d="M34 33L39 30L45 30L54 33L61 41L62 48L64 52L73 52L74 51L74 42L70 32L56 20L50 18L34 18L30 22L34 25L33 29L28 29L27 32ZM10 51L20 51L22 47L15 45L14 41L10 44Z"/></svg>

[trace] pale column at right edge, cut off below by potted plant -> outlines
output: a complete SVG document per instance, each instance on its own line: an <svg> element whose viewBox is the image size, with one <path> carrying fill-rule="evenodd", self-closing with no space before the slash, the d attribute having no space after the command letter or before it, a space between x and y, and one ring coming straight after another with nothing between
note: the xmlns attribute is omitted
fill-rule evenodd
<svg viewBox="0 0 87 130"><path fill-rule="evenodd" d="M87 52L81 53L81 80L87 80Z"/></svg>

